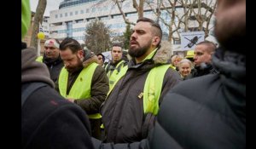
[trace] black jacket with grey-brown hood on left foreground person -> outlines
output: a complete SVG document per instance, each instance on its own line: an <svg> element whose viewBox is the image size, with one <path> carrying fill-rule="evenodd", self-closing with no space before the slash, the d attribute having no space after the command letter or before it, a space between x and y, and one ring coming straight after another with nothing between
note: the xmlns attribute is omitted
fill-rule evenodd
<svg viewBox="0 0 256 149"><path fill-rule="evenodd" d="M36 61L36 49L21 52L21 91L30 83L46 83L21 107L21 148L93 148L86 113L53 89L47 67Z"/></svg>

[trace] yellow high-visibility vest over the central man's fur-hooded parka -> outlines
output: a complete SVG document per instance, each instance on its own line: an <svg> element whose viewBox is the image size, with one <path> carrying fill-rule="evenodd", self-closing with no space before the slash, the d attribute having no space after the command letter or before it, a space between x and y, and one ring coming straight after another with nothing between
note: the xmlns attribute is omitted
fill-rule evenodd
<svg viewBox="0 0 256 149"><path fill-rule="evenodd" d="M168 68L172 68L171 65L166 64L162 66L156 66L148 72L148 77L146 78L146 82L144 84L143 89L143 111L144 113L151 112L156 115L159 111L159 99L162 90L162 85L164 81L164 77ZM173 69L173 68L172 68ZM113 87L118 82L120 78L125 76L125 73L128 70L128 66L125 66L121 72L119 72L119 76L117 77L117 81L113 84ZM111 93L112 88L109 89L108 95Z"/></svg>

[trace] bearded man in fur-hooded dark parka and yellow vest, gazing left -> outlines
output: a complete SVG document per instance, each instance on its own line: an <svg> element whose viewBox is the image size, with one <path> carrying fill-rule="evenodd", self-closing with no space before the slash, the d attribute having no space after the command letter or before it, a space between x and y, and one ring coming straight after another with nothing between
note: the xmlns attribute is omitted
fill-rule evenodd
<svg viewBox="0 0 256 149"><path fill-rule="evenodd" d="M163 96L179 82L178 73L168 63L172 46L160 44L161 37L154 20L137 20L128 51L132 60L119 73L101 108L105 142L146 138Z"/></svg>

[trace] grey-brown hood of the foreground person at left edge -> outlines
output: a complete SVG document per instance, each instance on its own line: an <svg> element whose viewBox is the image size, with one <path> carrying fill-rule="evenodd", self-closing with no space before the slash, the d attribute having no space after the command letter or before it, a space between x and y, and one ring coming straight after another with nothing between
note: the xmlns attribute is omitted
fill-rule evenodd
<svg viewBox="0 0 256 149"><path fill-rule="evenodd" d="M36 58L36 49L21 50L21 83L43 82L54 88L47 66L36 61Z"/></svg>

